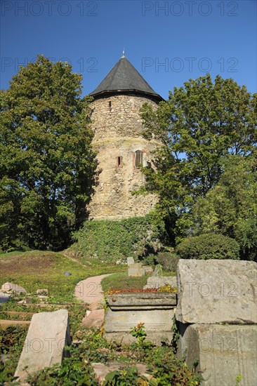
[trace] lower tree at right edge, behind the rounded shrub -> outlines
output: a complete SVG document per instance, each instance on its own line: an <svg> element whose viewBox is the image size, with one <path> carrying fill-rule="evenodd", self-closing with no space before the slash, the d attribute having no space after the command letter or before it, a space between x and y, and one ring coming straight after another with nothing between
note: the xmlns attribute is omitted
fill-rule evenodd
<svg viewBox="0 0 257 386"><path fill-rule="evenodd" d="M257 173L253 157L230 156L217 185L194 208L196 232L236 239L244 258L257 258Z"/></svg>

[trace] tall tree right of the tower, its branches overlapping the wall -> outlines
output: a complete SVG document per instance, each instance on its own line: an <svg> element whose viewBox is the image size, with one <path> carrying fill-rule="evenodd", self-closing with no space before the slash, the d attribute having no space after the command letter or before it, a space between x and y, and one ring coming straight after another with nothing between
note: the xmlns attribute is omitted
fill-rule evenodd
<svg viewBox="0 0 257 386"><path fill-rule="evenodd" d="M161 143L154 168L143 168L145 189L159 194L177 241L194 234L193 208L219 182L224 157L256 154L256 102L245 86L206 74L174 88L157 109L143 106L145 137Z"/></svg>

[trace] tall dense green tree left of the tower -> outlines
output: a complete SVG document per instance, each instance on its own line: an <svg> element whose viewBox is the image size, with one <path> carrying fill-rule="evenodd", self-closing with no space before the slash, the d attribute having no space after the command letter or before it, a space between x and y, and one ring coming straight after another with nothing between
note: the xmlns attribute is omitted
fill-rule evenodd
<svg viewBox="0 0 257 386"><path fill-rule="evenodd" d="M95 182L81 75L39 55L0 93L0 248L63 248Z"/></svg>

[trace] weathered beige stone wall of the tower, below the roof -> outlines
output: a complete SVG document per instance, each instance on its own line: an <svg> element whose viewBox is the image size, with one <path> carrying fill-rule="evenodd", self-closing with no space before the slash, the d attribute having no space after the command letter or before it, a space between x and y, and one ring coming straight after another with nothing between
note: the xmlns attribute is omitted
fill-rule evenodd
<svg viewBox="0 0 257 386"><path fill-rule="evenodd" d="M99 185L88 207L91 218L121 219L143 216L154 207L157 197L133 196L131 192L145 183L136 168L136 151L143 152L143 165L159 142L143 138L140 107L152 100L138 95L113 95L92 102L93 145L98 153Z"/></svg>

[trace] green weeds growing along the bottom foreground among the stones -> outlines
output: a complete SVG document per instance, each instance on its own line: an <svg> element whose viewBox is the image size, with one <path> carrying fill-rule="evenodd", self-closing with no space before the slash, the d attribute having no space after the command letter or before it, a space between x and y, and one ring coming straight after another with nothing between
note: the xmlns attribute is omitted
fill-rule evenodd
<svg viewBox="0 0 257 386"><path fill-rule="evenodd" d="M70 357L64 358L62 365L29 376L29 385L99 385L95 379L92 363L107 364L110 361L118 361L124 368L120 371L112 371L105 378L103 385L199 385L200 377L190 371L182 360L176 358L173 349L169 345L155 347L152 343L145 344L145 331L143 324L134 328L138 335L138 343L131 345L119 345L115 342L107 342L103 337L103 329L86 330L81 328L75 337L80 339L79 344L66 347ZM13 373L18 363L18 358L25 341L27 328L8 327L1 331L1 354L12 354L12 359L0 362L0 382L11 382ZM138 375L136 363L145 364L148 380L143 375Z"/></svg>

